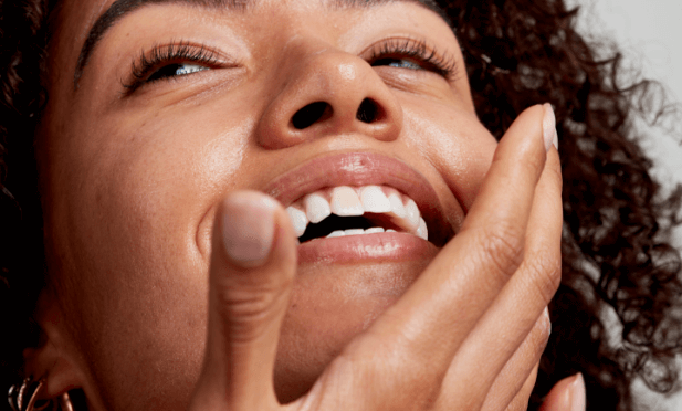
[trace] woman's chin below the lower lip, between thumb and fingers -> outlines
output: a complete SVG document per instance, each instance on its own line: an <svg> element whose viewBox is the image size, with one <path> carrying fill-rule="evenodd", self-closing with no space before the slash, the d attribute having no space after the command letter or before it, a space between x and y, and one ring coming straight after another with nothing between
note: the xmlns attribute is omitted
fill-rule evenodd
<svg viewBox="0 0 682 411"><path fill-rule="evenodd" d="M301 265L275 365L280 402L305 394L350 339L400 298L437 251L402 261Z"/></svg>

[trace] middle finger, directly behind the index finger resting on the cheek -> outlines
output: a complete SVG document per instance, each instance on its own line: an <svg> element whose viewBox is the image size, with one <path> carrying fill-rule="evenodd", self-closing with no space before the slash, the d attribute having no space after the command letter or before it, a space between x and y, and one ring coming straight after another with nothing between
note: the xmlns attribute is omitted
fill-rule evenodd
<svg viewBox="0 0 682 411"><path fill-rule="evenodd" d="M546 309L562 276L563 228L560 164L548 155L537 183L526 230L524 260L460 348L449 372L470 376L473 387L490 388ZM545 341L537 340L544 348ZM485 347L485 361L480 361ZM535 363L535 362L532 362Z"/></svg>

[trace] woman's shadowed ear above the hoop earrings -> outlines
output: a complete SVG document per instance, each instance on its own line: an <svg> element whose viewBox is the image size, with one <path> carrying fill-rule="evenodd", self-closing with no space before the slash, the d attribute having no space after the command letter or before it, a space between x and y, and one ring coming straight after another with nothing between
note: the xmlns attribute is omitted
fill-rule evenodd
<svg viewBox="0 0 682 411"><path fill-rule="evenodd" d="M34 313L41 329L40 342L23 351L25 376L45 379L40 400L57 398L84 383L78 351L70 337L62 307L49 288L41 292Z"/></svg>

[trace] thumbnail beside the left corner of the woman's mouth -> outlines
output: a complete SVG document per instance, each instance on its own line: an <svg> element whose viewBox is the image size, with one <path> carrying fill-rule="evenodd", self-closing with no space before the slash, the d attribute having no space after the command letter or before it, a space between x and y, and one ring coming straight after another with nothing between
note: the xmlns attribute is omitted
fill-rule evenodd
<svg viewBox="0 0 682 411"><path fill-rule="evenodd" d="M263 265L274 238L276 202L264 194L233 194L224 201L222 238L230 260L244 268Z"/></svg>

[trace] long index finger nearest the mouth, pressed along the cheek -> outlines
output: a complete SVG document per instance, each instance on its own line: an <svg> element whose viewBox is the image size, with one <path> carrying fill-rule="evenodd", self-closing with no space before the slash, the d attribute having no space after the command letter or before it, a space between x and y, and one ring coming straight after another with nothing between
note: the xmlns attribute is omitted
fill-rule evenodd
<svg viewBox="0 0 682 411"><path fill-rule="evenodd" d="M356 389L371 376L391 381L386 383L390 392L377 396L397 408L433 399L429 388L438 388L457 349L521 264L546 158L544 113L536 106L517 118L497 147L462 231L406 295L342 354L338 361L363 360Z"/></svg>

